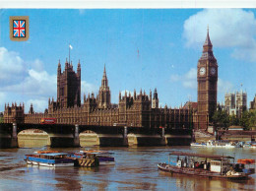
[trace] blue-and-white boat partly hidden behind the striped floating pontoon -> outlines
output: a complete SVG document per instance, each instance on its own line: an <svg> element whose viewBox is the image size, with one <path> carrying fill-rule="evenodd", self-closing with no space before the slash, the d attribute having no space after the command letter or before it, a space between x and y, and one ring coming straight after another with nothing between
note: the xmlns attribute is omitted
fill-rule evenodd
<svg viewBox="0 0 256 191"><path fill-rule="evenodd" d="M110 154L112 153L97 150L85 150L75 153L73 157L82 159L88 157L89 155L95 155L98 159L99 165L112 165L115 164L115 160L113 157L109 156Z"/></svg>

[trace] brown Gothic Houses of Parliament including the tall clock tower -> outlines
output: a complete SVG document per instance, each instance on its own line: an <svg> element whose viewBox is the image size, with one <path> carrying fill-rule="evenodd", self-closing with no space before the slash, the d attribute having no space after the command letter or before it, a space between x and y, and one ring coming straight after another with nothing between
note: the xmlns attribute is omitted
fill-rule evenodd
<svg viewBox="0 0 256 191"><path fill-rule="evenodd" d="M98 126L131 126L145 128L200 128L206 129L211 124L217 106L218 64L213 54L209 32L203 45L203 54L198 61L198 101L188 101L179 108L159 106L157 89L149 95L134 90L122 96L119 93L118 104L111 103L105 67L98 93L83 96L81 100L81 64L77 71L72 62L65 62L61 71L57 68L57 99L48 100L48 108L43 113L33 111L25 113L24 104L5 105L4 122L40 123L41 118L55 118L58 124L81 124Z"/></svg>

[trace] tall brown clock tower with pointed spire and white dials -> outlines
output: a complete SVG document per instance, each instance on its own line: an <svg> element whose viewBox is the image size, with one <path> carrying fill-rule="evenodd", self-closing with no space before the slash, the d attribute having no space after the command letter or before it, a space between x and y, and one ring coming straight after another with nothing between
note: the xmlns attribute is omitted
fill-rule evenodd
<svg viewBox="0 0 256 191"><path fill-rule="evenodd" d="M207 30L203 54L197 65L197 127L207 129L217 108L218 63L213 54L213 45Z"/></svg>

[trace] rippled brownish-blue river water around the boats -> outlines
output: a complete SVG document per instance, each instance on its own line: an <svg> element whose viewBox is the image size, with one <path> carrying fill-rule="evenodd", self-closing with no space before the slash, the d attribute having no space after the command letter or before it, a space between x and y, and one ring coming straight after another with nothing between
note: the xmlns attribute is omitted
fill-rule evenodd
<svg viewBox="0 0 256 191"><path fill-rule="evenodd" d="M209 179L158 170L171 151L256 159L253 149L191 147L86 148L113 152L115 165L49 168L25 163L24 155L43 148L0 150L0 190L255 190L256 175L248 180ZM85 149L85 148L81 148ZM56 149L54 149L56 150ZM59 151L77 152L68 148Z"/></svg>

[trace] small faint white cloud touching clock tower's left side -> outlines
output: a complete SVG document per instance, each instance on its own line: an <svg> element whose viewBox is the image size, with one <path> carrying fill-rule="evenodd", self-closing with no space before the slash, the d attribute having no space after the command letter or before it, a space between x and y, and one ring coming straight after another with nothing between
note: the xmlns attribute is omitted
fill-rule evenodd
<svg viewBox="0 0 256 191"><path fill-rule="evenodd" d="M197 70L195 68L191 68L184 75L171 75L170 80L172 82L181 82L184 88L197 89Z"/></svg>

